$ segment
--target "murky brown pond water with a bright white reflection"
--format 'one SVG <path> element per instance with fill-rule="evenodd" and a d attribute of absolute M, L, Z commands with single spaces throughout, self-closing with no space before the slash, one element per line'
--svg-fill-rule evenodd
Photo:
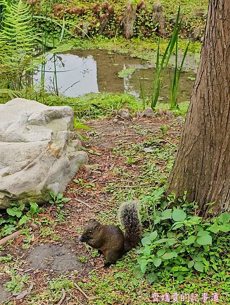
<path fill-rule="evenodd" d="M 134 68 L 131 75 L 118 77 L 122 69 Z M 48 93 L 54 90 L 54 57 L 49 54 L 45 67 L 45 88 Z M 128 93 L 140 97 L 142 92 L 152 94 L 155 69 L 149 63 L 128 55 L 109 53 L 105 50 L 72 51 L 56 54 L 58 92 L 66 97 L 79 97 L 87 93 Z M 168 102 L 170 97 L 173 70 L 167 69 L 161 90 L 161 100 Z M 180 78 L 179 102 L 190 99 L 194 72 L 183 72 Z M 191 78 L 191 79 L 190 79 Z M 39 83 L 41 71 L 34 75 Z"/>

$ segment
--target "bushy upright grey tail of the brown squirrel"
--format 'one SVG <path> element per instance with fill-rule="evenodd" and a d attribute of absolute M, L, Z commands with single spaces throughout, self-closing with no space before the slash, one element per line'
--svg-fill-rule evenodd
<path fill-rule="evenodd" d="M 124 253 L 141 240 L 140 204 L 137 201 L 123 203 L 118 210 L 118 218 L 124 227 Z"/>

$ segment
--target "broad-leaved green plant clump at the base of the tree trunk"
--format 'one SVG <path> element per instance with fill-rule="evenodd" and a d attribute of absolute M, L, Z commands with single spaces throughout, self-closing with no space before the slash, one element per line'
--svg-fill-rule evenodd
<path fill-rule="evenodd" d="M 160 192 L 157 200 L 162 195 Z M 229 213 L 203 219 L 198 216 L 197 206 L 186 202 L 186 192 L 178 201 L 180 207 L 175 206 L 175 194 L 168 196 L 167 201 L 162 201 L 161 197 L 161 209 L 155 209 L 153 215 L 148 213 L 151 231 L 143 234 L 142 248 L 137 251 L 140 256 L 136 275 L 142 277 L 147 273 L 149 279 L 155 280 L 159 270 L 165 268 L 178 280 L 183 280 L 194 271 L 213 275 L 218 270 L 215 277 L 224 280 L 226 244 L 230 240 L 227 234 Z M 169 208 L 172 204 L 174 206 Z M 227 264 L 229 267 L 229 261 Z"/>

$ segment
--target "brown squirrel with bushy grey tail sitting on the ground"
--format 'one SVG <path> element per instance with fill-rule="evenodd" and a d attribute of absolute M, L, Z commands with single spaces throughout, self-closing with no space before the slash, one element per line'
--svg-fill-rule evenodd
<path fill-rule="evenodd" d="M 124 227 L 124 234 L 117 226 L 102 225 L 94 220 L 84 227 L 80 238 L 80 241 L 106 256 L 105 268 L 115 264 L 141 239 L 140 206 L 137 201 L 123 203 L 118 210 L 118 219 Z"/>

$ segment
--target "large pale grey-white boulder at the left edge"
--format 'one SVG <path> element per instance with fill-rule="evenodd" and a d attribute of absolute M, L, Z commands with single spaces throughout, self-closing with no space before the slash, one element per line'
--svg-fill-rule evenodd
<path fill-rule="evenodd" d="M 73 140 L 74 112 L 14 99 L 0 104 L 0 208 L 12 201 L 45 202 L 62 193 L 88 162 Z"/>

